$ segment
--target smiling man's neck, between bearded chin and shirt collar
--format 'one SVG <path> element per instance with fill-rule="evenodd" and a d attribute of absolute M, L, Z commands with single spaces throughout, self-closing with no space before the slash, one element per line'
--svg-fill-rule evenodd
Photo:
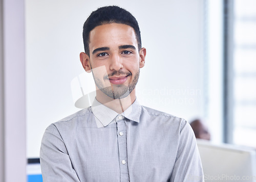
<path fill-rule="evenodd" d="M 96 91 L 96 99 L 102 103 L 104 106 L 112 109 L 113 111 L 117 112 L 118 114 L 123 113 L 127 108 L 129 108 L 132 103 L 135 101 L 135 89 L 126 97 L 124 98 L 111 98 L 105 95 L 103 92 L 97 89 Z"/>

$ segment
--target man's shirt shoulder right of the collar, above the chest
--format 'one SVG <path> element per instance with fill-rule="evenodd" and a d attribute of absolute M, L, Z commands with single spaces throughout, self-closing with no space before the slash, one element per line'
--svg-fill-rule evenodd
<path fill-rule="evenodd" d="M 187 121 L 183 118 L 174 116 L 172 114 L 168 114 L 165 112 L 161 112 L 152 108 L 148 108 L 145 106 L 141 106 L 141 117 L 142 119 L 148 119 L 151 122 L 156 121 L 158 123 L 164 123 L 164 124 L 170 124 L 172 126 L 176 125 L 177 127 L 180 127 L 180 131 L 183 129 L 183 127 L 188 124 Z"/>

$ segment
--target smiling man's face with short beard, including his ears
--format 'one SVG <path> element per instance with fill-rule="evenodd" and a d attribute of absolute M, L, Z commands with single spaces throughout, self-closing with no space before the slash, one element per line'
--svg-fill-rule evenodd
<path fill-rule="evenodd" d="M 90 32 L 89 50 L 88 64 L 97 88 L 114 99 L 129 95 L 146 53 L 145 48 L 138 51 L 134 29 L 119 23 L 99 25 Z M 99 67 L 103 69 L 94 69 Z"/>

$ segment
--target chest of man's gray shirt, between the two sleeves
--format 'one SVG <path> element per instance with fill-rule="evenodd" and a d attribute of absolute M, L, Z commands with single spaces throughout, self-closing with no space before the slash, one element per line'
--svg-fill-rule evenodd
<path fill-rule="evenodd" d="M 164 127 L 120 121 L 71 135 L 66 147 L 81 181 L 167 181 L 176 160 L 175 133 Z"/>

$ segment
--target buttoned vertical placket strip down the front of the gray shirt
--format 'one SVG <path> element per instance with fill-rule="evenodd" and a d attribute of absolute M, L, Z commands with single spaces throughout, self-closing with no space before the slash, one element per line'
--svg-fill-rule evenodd
<path fill-rule="evenodd" d="M 117 122 L 117 140 L 119 149 L 119 166 L 121 182 L 129 181 L 129 171 L 127 165 L 127 144 L 126 144 L 126 126 L 124 117 L 119 115 Z"/>

